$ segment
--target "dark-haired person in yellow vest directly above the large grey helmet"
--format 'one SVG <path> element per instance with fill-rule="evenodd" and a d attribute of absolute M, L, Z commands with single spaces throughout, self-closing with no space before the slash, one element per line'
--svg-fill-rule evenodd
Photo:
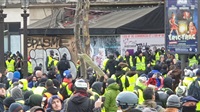
<path fill-rule="evenodd" d="M 133 67 L 131 71 L 127 72 L 127 78 L 129 81 L 129 87 L 127 88 L 127 91 L 133 92 L 136 85 L 136 80 L 138 78 L 138 74 L 136 72 L 136 67 Z"/>

